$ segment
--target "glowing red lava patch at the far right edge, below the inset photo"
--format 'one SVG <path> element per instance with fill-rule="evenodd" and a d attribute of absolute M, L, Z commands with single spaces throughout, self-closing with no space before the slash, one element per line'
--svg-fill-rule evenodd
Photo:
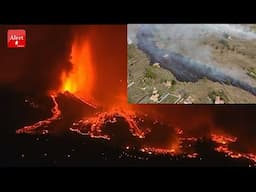
<path fill-rule="evenodd" d="M 212 134 L 212 140 L 218 144 L 218 146 L 215 148 L 216 151 L 225 153 L 233 159 L 245 158 L 256 162 L 256 154 L 239 153 L 230 149 L 229 144 L 237 142 L 236 137 Z"/>

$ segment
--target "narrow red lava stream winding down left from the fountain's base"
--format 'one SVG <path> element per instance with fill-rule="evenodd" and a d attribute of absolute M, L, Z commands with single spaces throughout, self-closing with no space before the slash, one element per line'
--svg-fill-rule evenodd
<path fill-rule="evenodd" d="M 21 133 L 36 133 L 37 129 L 39 127 L 45 127 L 47 125 L 49 125 L 52 121 L 57 120 L 60 115 L 61 115 L 61 111 L 59 110 L 59 106 L 58 103 L 56 101 L 56 98 L 54 95 L 51 95 L 52 101 L 54 103 L 54 106 L 52 108 L 52 116 L 48 119 L 42 120 L 42 121 L 38 121 L 37 123 L 33 124 L 33 125 L 29 125 L 29 126 L 25 126 L 21 129 L 18 129 L 16 131 L 17 134 L 21 134 Z M 41 134 L 47 134 L 48 130 L 42 130 Z"/>

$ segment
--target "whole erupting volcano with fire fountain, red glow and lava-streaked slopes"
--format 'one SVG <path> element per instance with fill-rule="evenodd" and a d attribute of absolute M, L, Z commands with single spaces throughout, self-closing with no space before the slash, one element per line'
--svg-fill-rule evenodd
<path fill-rule="evenodd" d="M 25 109 L 39 115 L 34 117 L 37 121 L 21 122 L 23 127 L 16 129 L 17 137 L 31 140 L 39 146 L 36 149 L 44 150 L 38 156 L 47 164 L 55 165 L 63 159 L 83 163 L 114 159 L 200 165 L 208 158 L 204 146 L 209 153 L 224 154 L 218 158 L 225 162 L 234 159 L 245 159 L 250 165 L 256 162 L 253 153 L 238 153 L 229 147 L 237 138 L 214 134 L 207 137 L 211 132 L 207 123 L 212 123 L 212 120 L 207 117 L 205 109 L 197 113 L 201 117 L 193 114 L 190 117 L 183 106 L 127 103 L 125 26 L 74 27 L 72 35 L 74 38 L 67 57 L 70 67 L 54 70 L 57 76 L 53 82 L 58 82 L 58 86 L 51 86 L 46 91 L 47 106 L 51 109 L 46 107 L 44 100 L 34 99 L 38 96 L 36 94 L 25 99 Z M 41 119 L 44 116 L 40 116 L 40 111 L 47 111 L 50 116 Z M 200 128 L 197 129 L 200 126 L 206 127 L 207 131 L 200 132 Z M 37 144 L 39 142 L 42 143 Z M 211 142 L 214 147 L 209 144 Z M 45 146 L 49 147 L 46 149 Z M 56 149 L 58 146 L 65 147 Z M 51 148 L 56 149 L 56 154 L 47 152 Z M 27 155 L 26 150 L 27 147 L 19 147 L 19 160 L 30 158 L 36 161 L 36 157 Z M 54 160 L 58 159 L 57 155 L 63 159 Z M 46 158 L 52 159 L 47 161 Z"/>

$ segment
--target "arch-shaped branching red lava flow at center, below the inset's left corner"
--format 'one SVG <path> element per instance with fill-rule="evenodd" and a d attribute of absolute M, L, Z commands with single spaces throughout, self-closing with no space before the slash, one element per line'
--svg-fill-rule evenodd
<path fill-rule="evenodd" d="M 103 127 L 107 123 L 116 123 L 117 117 L 124 118 L 129 125 L 131 134 L 138 138 L 144 138 L 144 132 L 138 127 L 135 121 L 135 115 L 131 112 L 113 109 L 109 112 L 101 112 L 96 114 L 95 117 L 87 118 L 79 122 L 79 128 L 70 128 L 70 131 L 75 131 L 81 135 L 88 135 L 92 138 L 103 138 L 110 140 L 110 136 L 103 134 Z"/>

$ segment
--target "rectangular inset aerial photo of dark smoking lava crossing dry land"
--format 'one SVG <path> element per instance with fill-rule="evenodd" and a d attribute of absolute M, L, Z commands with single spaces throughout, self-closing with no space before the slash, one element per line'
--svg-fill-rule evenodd
<path fill-rule="evenodd" d="M 256 103 L 255 24 L 129 24 L 128 102 Z"/>

